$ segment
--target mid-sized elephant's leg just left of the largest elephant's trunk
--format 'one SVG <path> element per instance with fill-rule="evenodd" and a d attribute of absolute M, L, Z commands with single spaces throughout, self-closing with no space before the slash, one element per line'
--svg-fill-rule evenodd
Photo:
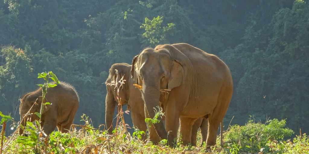
<path fill-rule="evenodd" d="M 145 113 L 144 111 L 138 110 L 138 108 L 132 106 L 131 107 L 131 118 L 134 124 L 134 128 L 139 129 L 140 131 L 144 131 L 145 133 L 142 135 L 142 140 L 147 140 L 147 125 L 145 123 Z"/>

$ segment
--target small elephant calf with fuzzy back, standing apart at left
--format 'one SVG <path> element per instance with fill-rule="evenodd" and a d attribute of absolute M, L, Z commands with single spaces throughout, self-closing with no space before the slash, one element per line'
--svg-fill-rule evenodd
<path fill-rule="evenodd" d="M 44 107 L 41 115 L 42 130 L 47 136 L 49 136 L 56 127 L 62 133 L 68 132 L 67 130 L 70 130 L 73 124 L 79 102 L 79 97 L 75 88 L 68 83 L 60 82 L 57 86 L 48 88 L 44 100 L 42 100 L 42 98 L 41 87 L 22 97 L 19 107 L 21 124 L 26 126 L 27 121 L 33 122 L 34 120 L 38 120 L 39 117 L 33 113 L 40 113 L 42 102 L 49 102 L 50 105 L 48 104 Z M 29 110 L 32 114 L 23 119 L 23 116 L 27 114 Z M 23 134 L 22 127 L 19 129 L 19 134 Z"/>

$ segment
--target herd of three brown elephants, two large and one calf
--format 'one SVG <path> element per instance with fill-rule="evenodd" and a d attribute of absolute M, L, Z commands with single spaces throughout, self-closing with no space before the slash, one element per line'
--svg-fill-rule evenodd
<path fill-rule="evenodd" d="M 125 84 L 120 88 L 119 95 L 114 84 L 106 85 L 105 122 L 109 134 L 113 130 L 115 107 L 121 103 L 122 106 L 128 104 L 135 128 L 144 132 L 148 129 L 149 141 L 166 139 L 168 145 L 173 146 L 179 131 L 183 144 L 196 145 L 197 129 L 200 128 L 202 141 L 208 146 L 216 144 L 218 128 L 220 124 L 222 128 L 233 93 L 231 72 L 217 56 L 185 43 L 158 45 L 135 56 L 132 65 L 112 65 L 106 83 L 117 83 L 122 77 Z M 133 84 L 142 88 L 136 88 Z M 170 91 L 166 93 L 160 89 Z M 21 99 L 21 118 L 34 105 L 33 102 L 36 102 L 34 106 L 37 108 L 32 107 L 30 113 L 37 110 L 40 103 L 47 102 L 40 98 L 41 90 L 28 93 Z M 57 97 L 53 97 L 57 92 Z M 120 102 L 117 97 L 121 98 Z M 53 105 L 43 111 L 43 131 L 49 135 L 57 127 L 59 131 L 66 132 L 78 108 L 78 95 L 74 87 L 61 82 L 50 88 L 45 98 Z M 147 128 L 145 118 L 155 117 L 154 107 L 161 107 L 164 116 L 158 117 L 159 123 Z M 35 119 L 32 114 L 21 124 Z M 22 134 L 23 130 L 19 132 Z M 146 134 L 143 139 L 147 139 Z"/>

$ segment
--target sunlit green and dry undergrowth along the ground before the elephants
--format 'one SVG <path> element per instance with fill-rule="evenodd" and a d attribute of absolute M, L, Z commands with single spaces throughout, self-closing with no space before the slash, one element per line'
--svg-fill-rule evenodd
<path fill-rule="evenodd" d="M 4 115 L 3 115 L 4 116 Z M 48 140 L 42 135 L 37 137 L 37 128 L 34 124 L 28 122 L 26 132 L 28 137 L 13 134 L 5 137 L 3 153 L 20 153 L 34 154 L 35 152 L 43 153 L 45 150 L 50 153 L 105 153 L 109 148 L 113 153 L 248 153 L 263 152 L 271 154 L 292 154 L 309 152 L 309 139 L 306 134 L 302 137 L 296 136 L 293 141 L 283 140 L 283 137 L 291 136 L 294 132 L 289 128 L 283 128 L 286 124 L 285 120 L 269 120 L 265 124 L 250 120 L 246 125 L 229 126 L 224 132 L 224 147 L 219 147 L 220 136 L 217 137 L 217 145 L 206 147 L 204 145 L 193 147 L 190 145 L 178 145 L 175 148 L 166 146 L 166 140 L 158 145 L 145 143 L 141 139 L 139 130 L 130 136 L 130 133 L 124 128 L 125 125 L 119 125 L 115 128 L 114 135 L 107 134 L 106 130 L 93 128 L 89 123 L 88 117 L 81 116 L 85 124 L 73 126 L 69 133 L 52 132 Z M 6 117 L 7 118 L 7 117 Z M 79 127 L 79 128 L 77 128 Z M 109 137 L 109 142 L 107 138 Z M 180 138 L 178 139 L 178 142 Z M 39 142 L 38 142 L 39 141 Z M 180 142 L 181 143 L 181 142 Z M 198 132 L 197 144 L 201 144 L 201 133 Z M 210 149 L 207 149 L 210 148 Z"/>

